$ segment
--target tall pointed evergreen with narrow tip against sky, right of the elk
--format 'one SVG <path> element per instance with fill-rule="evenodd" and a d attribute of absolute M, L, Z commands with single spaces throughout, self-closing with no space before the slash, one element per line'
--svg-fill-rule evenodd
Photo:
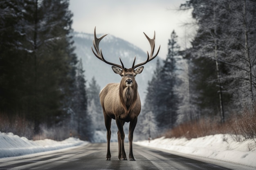
<path fill-rule="evenodd" d="M 159 112 L 157 122 L 159 128 L 173 128 L 177 121 L 177 109 L 179 98 L 176 94 L 175 87 L 178 85 L 177 77 L 177 60 L 179 60 L 180 46 L 177 44 L 177 35 L 175 31 L 171 33 L 171 39 L 168 42 L 168 55 L 164 61 L 162 71 L 160 72 L 158 101 Z"/>

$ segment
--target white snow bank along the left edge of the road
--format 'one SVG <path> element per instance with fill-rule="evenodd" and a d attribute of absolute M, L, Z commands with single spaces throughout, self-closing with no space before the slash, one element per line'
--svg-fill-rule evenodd
<path fill-rule="evenodd" d="M 26 137 L 13 135 L 13 133 L 0 132 L 0 158 L 58 150 L 87 143 L 74 137 L 63 141 L 54 141 L 51 139 L 32 141 Z"/>

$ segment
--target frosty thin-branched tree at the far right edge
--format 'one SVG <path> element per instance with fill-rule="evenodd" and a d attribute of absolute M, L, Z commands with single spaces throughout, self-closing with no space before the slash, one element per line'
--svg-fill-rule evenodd
<path fill-rule="evenodd" d="M 226 7 L 230 14 L 229 32 L 226 32 L 224 41 L 228 55 L 219 60 L 230 66 L 230 76 L 227 78 L 233 80 L 230 90 L 234 93 L 235 105 L 240 106 L 255 100 L 255 7 L 254 0 L 230 0 Z"/>

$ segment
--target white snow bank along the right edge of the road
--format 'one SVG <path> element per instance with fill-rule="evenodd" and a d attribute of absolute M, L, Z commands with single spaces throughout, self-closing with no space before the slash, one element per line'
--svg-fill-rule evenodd
<path fill-rule="evenodd" d="M 150 143 L 148 141 L 134 143 L 256 168 L 256 142 L 253 139 L 238 142 L 231 135 L 219 134 L 191 140 L 161 137 L 151 140 Z"/>

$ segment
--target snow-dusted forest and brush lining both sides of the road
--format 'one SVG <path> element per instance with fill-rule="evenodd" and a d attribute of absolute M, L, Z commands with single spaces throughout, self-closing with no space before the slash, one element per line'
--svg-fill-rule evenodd
<path fill-rule="evenodd" d="M 188 48 L 170 30 L 135 133 L 256 137 L 256 2 L 188 0 L 196 28 Z M 0 131 L 28 139 L 93 141 L 105 130 L 100 87 L 74 53 L 69 0 L 0 1 Z M 254 65 L 255 64 L 255 65 Z M 99 116 L 98 116 L 99 115 Z M 101 123 L 99 123 L 101 122 Z M 240 140 L 242 138 L 239 138 Z"/>

